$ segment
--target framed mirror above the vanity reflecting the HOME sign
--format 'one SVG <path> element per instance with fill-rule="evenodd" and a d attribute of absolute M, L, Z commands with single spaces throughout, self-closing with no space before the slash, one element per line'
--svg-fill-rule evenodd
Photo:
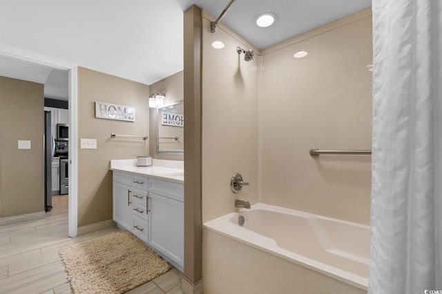
<path fill-rule="evenodd" d="M 157 108 L 157 153 L 184 154 L 183 102 Z"/>

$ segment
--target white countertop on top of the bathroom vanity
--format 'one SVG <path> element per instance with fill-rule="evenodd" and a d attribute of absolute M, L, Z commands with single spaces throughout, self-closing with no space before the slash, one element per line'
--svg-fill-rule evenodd
<path fill-rule="evenodd" d="M 180 160 L 152 160 L 151 167 L 137 167 L 136 159 L 111 160 L 111 171 L 184 183 L 184 162 Z"/>

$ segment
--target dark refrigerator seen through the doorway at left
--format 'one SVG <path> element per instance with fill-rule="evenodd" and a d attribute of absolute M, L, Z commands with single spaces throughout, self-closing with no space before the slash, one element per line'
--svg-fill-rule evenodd
<path fill-rule="evenodd" d="M 52 209 L 52 159 L 55 153 L 55 139 L 52 134 L 50 112 L 44 112 L 44 210 Z"/>

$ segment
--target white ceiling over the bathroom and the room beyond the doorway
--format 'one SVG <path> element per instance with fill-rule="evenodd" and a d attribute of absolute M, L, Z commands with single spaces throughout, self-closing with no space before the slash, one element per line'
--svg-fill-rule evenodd
<path fill-rule="evenodd" d="M 0 0 L 0 53 L 32 52 L 151 85 L 183 69 L 183 11 L 218 17 L 229 0 Z M 222 20 L 266 48 L 371 5 L 371 0 L 236 0 Z M 258 28 L 258 14 L 277 21 Z M 12 48 L 12 49 L 11 49 Z M 29 65 L 29 68 L 23 68 Z M 67 99 L 67 72 L 0 56 L 0 75 L 45 83 Z"/>

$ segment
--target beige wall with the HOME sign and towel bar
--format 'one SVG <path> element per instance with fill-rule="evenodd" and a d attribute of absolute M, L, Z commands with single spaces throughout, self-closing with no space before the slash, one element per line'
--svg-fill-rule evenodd
<path fill-rule="evenodd" d="M 97 149 L 78 146 L 79 227 L 112 218 L 109 161 L 148 154 L 142 139 L 111 138 L 111 133 L 149 136 L 148 93 L 148 85 L 79 67 L 78 138 L 97 139 Z M 135 122 L 95 118 L 95 101 L 135 107 Z"/>

